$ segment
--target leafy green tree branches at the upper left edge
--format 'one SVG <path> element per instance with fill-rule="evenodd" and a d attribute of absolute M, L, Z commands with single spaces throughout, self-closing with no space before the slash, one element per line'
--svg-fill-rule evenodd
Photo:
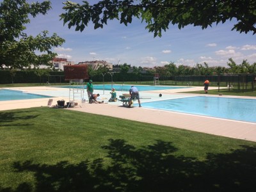
<path fill-rule="evenodd" d="M 24 68 L 49 64 L 56 56 L 52 46 L 58 47 L 65 40 L 56 33 L 47 36 L 42 31 L 35 37 L 24 33 L 25 25 L 30 22 L 29 15 L 45 15 L 51 9 L 51 2 L 28 4 L 26 0 L 4 0 L 0 3 L 0 67 Z M 35 51 L 44 54 L 38 56 Z"/>

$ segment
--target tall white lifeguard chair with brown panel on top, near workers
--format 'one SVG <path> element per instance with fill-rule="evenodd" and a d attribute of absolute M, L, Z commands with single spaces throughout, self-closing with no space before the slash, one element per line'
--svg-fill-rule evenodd
<path fill-rule="evenodd" d="M 65 81 L 69 81 L 67 108 L 84 103 L 84 79 L 89 79 L 87 65 L 64 65 Z"/>

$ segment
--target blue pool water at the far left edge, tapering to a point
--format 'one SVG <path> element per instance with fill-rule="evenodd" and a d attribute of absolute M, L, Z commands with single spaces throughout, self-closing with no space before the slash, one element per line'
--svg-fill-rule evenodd
<path fill-rule="evenodd" d="M 36 95 L 32 93 L 24 93 L 16 90 L 0 90 L 0 101 L 3 100 L 24 100 L 24 99 L 42 99 L 49 98 L 47 95 Z"/>

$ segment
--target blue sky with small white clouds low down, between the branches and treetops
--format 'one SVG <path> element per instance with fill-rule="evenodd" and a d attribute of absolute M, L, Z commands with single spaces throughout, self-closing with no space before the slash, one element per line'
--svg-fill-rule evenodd
<path fill-rule="evenodd" d="M 82 0 L 71 0 L 83 4 Z M 28 0 L 29 3 L 33 2 Z M 38 1 L 42 2 L 42 1 Z M 67 58 L 75 64 L 83 61 L 104 60 L 109 63 L 127 63 L 136 67 L 163 67 L 171 62 L 175 65 L 194 67 L 196 63 L 209 67 L 227 67 L 228 58 L 237 65 L 247 60 L 251 65 L 256 62 L 256 35 L 232 31 L 234 21 L 213 25 L 207 29 L 186 26 L 179 29 L 170 24 L 169 29 L 156 36 L 145 29 L 146 24 L 134 19 L 125 26 L 118 20 L 109 20 L 102 29 L 93 29 L 89 24 L 84 31 L 68 29 L 59 15 L 64 13 L 63 0 L 51 1 L 52 9 L 47 15 L 31 18 L 26 25 L 26 33 L 36 36 L 44 30 L 49 35 L 57 33 L 65 39 L 61 47 L 52 51 L 59 58 Z M 90 4 L 97 0 L 88 1 Z"/>

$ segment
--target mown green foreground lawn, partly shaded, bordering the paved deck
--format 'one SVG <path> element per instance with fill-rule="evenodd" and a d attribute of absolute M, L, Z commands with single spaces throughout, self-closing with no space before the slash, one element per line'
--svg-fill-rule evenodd
<path fill-rule="evenodd" d="M 66 109 L 0 111 L 0 123 L 0 191 L 256 187 L 254 142 Z"/>

